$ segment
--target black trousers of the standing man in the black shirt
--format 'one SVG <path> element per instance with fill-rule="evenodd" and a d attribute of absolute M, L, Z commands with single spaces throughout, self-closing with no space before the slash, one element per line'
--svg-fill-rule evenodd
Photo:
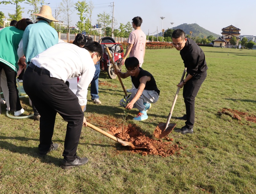
<path fill-rule="evenodd" d="M 207 71 L 195 75 L 183 86 L 183 98 L 186 106 L 186 128 L 193 128 L 195 121 L 195 97 L 207 76 Z"/>

